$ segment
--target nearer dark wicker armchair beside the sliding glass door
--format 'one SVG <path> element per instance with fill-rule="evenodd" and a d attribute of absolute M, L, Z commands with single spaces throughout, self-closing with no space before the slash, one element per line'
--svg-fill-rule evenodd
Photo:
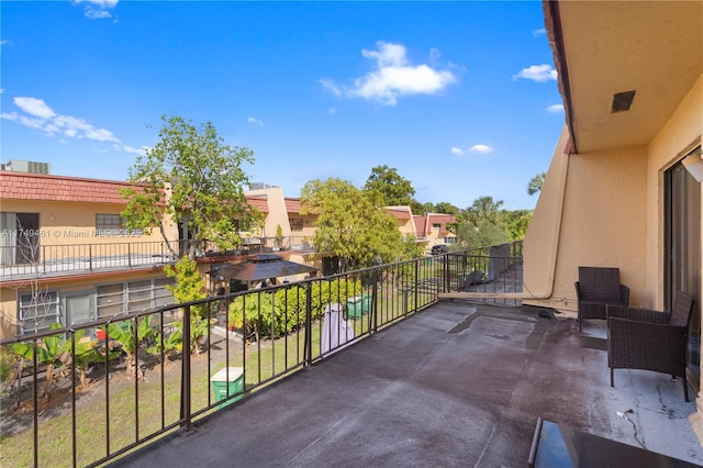
<path fill-rule="evenodd" d="M 685 350 L 693 299 L 677 292 L 671 312 L 607 307 L 607 366 L 611 387 L 614 369 L 645 369 L 682 377 L 685 381 Z"/>

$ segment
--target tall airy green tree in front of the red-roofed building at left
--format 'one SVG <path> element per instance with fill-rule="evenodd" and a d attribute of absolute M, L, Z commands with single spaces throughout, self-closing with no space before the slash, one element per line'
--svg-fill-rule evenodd
<path fill-rule="evenodd" d="M 165 222 L 171 215 L 178 225 L 188 225 L 194 241 L 236 247 L 239 231 L 260 221 L 243 189 L 248 178 L 242 165 L 254 160 L 253 152 L 226 145 L 210 122 L 198 129 L 178 115 L 163 115 L 161 121 L 159 142 L 130 169 L 133 187 L 120 190 L 129 200 L 122 212 L 126 226 L 146 232 L 158 227 L 168 241 Z"/>

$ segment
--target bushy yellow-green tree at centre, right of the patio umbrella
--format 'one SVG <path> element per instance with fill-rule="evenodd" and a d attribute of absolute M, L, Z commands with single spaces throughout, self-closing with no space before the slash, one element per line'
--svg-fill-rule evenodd
<path fill-rule="evenodd" d="M 338 256 L 346 267 L 365 267 L 412 258 L 414 242 L 404 239 L 376 190 L 361 191 L 337 178 L 311 180 L 301 190 L 301 214 L 317 218 L 313 243 Z M 412 247 L 411 247 L 412 246 Z"/>

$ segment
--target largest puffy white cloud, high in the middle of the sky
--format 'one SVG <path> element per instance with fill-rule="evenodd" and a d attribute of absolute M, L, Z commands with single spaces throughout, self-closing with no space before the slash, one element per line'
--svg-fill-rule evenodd
<path fill-rule="evenodd" d="M 376 62 L 376 69 L 364 77 L 354 80 L 354 85 L 346 87 L 337 85 L 328 78 L 320 83 L 334 96 L 362 98 L 379 101 L 386 105 L 395 105 L 401 96 L 434 94 L 442 91 L 457 80 L 449 70 L 438 70 L 428 65 L 412 65 L 405 46 L 378 42 L 378 49 L 362 49 L 364 57 Z M 431 55 L 438 57 L 433 49 Z"/>

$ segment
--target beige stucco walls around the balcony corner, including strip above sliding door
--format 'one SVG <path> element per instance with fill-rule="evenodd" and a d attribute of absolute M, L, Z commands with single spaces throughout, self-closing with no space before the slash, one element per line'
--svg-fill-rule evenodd
<path fill-rule="evenodd" d="M 577 268 L 593 265 L 621 268 L 632 305 L 662 308 L 663 171 L 702 131 L 703 77 L 647 146 L 566 156 L 562 134 L 525 237 L 524 303 L 576 313 Z"/>

